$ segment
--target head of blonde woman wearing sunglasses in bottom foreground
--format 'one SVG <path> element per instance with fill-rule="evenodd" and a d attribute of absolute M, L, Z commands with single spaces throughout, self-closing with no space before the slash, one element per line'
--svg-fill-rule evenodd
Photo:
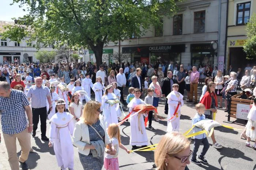
<path fill-rule="evenodd" d="M 192 155 L 190 141 L 178 132 L 165 134 L 154 154 L 157 170 L 185 170 Z"/>

